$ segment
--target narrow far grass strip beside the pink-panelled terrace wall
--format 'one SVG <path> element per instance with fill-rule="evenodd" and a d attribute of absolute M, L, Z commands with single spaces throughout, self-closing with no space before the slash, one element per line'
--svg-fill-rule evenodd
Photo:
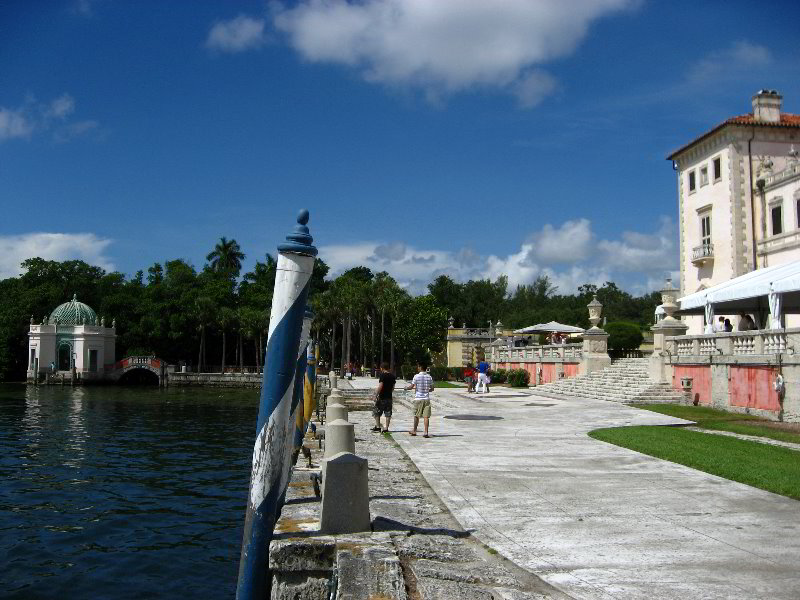
<path fill-rule="evenodd" d="M 724 410 L 708 408 L 706 406 L 692 406 L 686 404 L 634 404 L 636 408 L 643 408 L 653 412 L 696 421 L 698 427 L 703 429 L 716 429 L 718 431 L 732 431 L 745 435 L 756 435 L 782 442 L 800 444 L 800 432 L 781 431 L 770 427 L 768 421 L 753 415 L 729 413 Z M 741 421 L 747 421 L 742 423 Z"/>

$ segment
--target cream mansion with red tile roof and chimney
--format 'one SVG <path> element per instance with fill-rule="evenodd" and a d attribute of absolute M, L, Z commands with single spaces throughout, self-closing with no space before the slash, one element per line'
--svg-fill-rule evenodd
<path fill-rule="evenodd" d="M 678 175 L 683 295 L 800 260 L 800 115 L 783 112 L 782 100 L 761 90 L 752 113 L 726 119 L 668 157 Z M 800 326 L 797 315 L 784 319 L 785 327 Z M 688 333 L 703 332 L 702 315 L 684 320 Z"/>

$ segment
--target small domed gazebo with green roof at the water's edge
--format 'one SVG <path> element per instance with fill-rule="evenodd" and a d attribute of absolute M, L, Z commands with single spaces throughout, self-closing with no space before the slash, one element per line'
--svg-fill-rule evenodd
<path fill-rule="evenodd" d="M 72 372 L 81 379 L 103 379 L 114 365 L 116 323 L 106 327 L 105 318 L 77 295 L 56 307 L 40 325 L 31 317 L 28 333 L 28 379 L 35 373 Z"/>

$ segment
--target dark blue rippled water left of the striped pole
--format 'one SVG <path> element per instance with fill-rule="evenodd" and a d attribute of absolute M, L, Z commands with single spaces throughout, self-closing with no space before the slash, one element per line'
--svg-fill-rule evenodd
<path fill-rule="evenodd" d="M 257 412 L 257 390 L 0 384 L 0 597 L 232 597 Z"/>

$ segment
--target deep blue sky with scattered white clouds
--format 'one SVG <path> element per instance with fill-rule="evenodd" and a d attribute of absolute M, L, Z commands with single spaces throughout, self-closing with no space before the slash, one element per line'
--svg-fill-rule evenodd
<path fill-rule="evenodd" d="M 641 292 L 677 268 L 665 160 L 763 87 L 794 2 L 0 3 L 0 277 L 133 274 L 300 207 L 334 272 Z"/>

